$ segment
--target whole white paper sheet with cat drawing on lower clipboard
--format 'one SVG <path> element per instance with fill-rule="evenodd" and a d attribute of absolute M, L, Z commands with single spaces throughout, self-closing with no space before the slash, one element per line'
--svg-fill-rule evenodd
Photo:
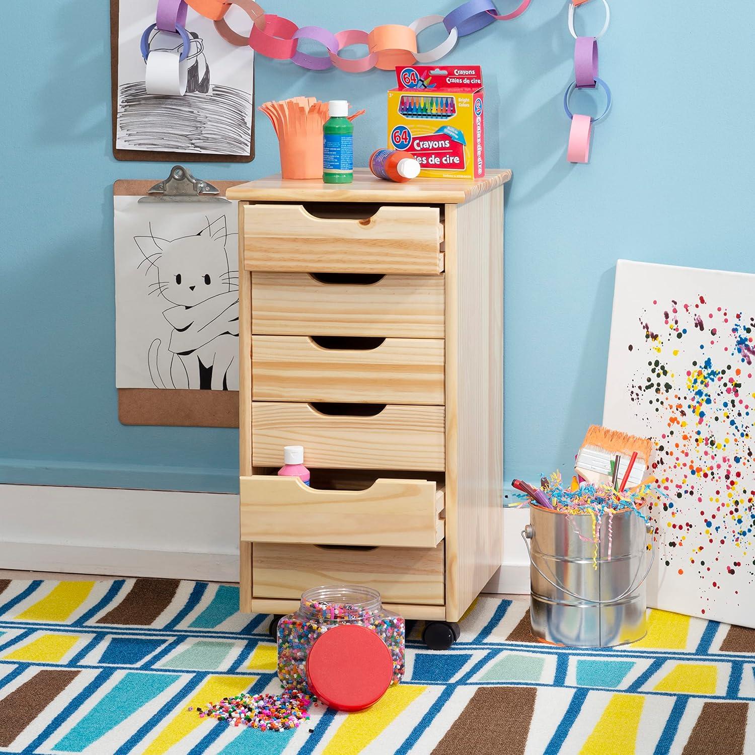
<path fill-rule="evenodd" d="M 238 390 L 236 202 L 113 199 L 116 387 Z"/>

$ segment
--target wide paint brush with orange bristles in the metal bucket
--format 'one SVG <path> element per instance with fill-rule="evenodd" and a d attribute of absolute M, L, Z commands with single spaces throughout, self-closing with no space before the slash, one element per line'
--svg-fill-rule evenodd
<path fill-rule="evenodd" d="M 617 488 L 633 488 L 643 482 L 652 450 L 653 443 L 648 438 L 592 425 L 584 436 L 574 468 L 593 485 L 602 482 L 611 485 L 611 462 L 618 456 L 615 479 L 621 480 L 621 485 L 614 484 Z"/>

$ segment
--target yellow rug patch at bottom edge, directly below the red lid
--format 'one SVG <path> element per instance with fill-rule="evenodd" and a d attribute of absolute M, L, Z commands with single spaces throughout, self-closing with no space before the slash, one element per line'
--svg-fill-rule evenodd
<path fill-rule="evenodd" d="M 391 687 L 372 707 L 350 713 L 328 742 L 322 755 L 356 755 L 379 737 L 427 687 L 399 684 Z"/>

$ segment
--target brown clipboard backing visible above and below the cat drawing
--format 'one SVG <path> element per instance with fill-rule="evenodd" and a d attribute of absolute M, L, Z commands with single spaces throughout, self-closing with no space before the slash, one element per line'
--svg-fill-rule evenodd
<path fill-rule="evenodd" d="M 119 180 L 113 196 L 146 196 L 156 181 Z M 226 195 L 243 181 L 213 181 Z M 119 388 L 118 419 L 125 425 L 166 427 L 239 427 L 237 390 Z"/>

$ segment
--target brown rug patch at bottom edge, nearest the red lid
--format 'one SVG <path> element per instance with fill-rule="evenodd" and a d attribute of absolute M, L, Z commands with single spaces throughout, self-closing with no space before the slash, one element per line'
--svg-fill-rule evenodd
<path fill-rule="evenodd" d="M 433 755 L 523 755 L 537 692 L 535 687 L 480 687 Z"/>

